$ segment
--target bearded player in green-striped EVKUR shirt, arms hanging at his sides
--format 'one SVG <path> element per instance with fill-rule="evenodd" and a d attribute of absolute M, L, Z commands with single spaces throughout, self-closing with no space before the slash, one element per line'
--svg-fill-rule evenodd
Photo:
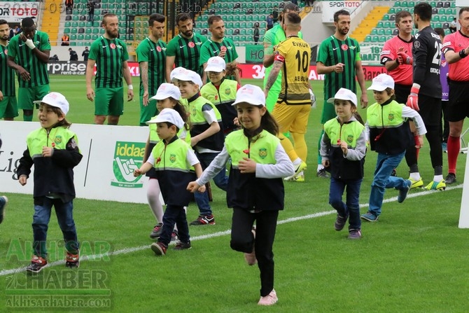
<path fill-rule="evenodd" d="M 109 125 L 118 125 L 119 117 L 124 113 L 123 77 L 127 83 L 127 101 L 134 99 L 134 87 L 127 64 L 129 54 L 125 43 L 117 38 L 117 15 L 105 14 L 102 25 L 104 35 L 95 40 L 90 48 L 86 67 L 86 97 L 90 101 L 94 100 L 94 124 L 103 125 L 107 116 Z M 94 64 L 97 68 L 94 79 L 96 93 L 91 87 Z"/>

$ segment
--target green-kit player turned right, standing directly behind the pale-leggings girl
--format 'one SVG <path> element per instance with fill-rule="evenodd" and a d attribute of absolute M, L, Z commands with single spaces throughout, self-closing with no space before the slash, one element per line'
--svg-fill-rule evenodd
<path fill-rule="evenodd" d="M 158 13 L 150 15 L 150 34 L 135 50 L 140 66 L 140 126 L 146 126 L 157 114 L 156 100 L 148 100 L 148 95 L 156 95 L 160 85 L 165 83 L 166 43 L 161 40 L 165 34 L 165 19 L 165 15 Z"/>

